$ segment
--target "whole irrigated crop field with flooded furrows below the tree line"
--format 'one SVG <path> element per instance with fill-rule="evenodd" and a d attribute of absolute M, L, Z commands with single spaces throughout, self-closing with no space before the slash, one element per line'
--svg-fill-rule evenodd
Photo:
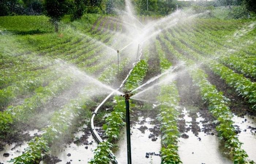
<path fill-rule="evenodd" d="M 133 163 L 254 163 L 256 21 L 125 18 L 0 17 L 0 163 L 126 163 L 131 69 Z"/>

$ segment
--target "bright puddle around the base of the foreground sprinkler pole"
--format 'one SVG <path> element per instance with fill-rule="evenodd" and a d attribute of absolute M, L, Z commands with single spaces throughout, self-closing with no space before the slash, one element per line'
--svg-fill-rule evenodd
<path fill-rule="evenodd" d="M 140 121 L 143 118 L 139 118 Z M 153 128 L 154 125 L 150 124 L 151 119 L 146 118 L 146 122 L 143 125 L 133 124 L 131 125 L 131 153 L 132 153 L 132 163 L 136 164 L 160 164 L 161 157 L 160 156 L 149 156 L 146 158 L 146 153 L 155 152 L 159 154 L 161 149 L 161 136 L 157 137 L 156 141 L 152 141 L 148 136 L 151 132 L 147 129 L 145 130 L 145 134 L 142 133 L 138 128 L 140 126 L 147 126 L 148 128 Z M 118 150 L 114 152 L 117 160 L 120 164 L 127 163 L 127 145 L 126 145 L 126 128 L 124 128 L 121 132 L 120 140 L 118 141 Z"/>

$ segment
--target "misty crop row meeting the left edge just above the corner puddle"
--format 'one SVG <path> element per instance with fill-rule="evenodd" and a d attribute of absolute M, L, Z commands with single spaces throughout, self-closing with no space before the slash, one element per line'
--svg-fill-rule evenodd
<path fill-rule="evenodd" d="M 38 87 L 32 97 L 26 98 L 22 105 L 9 106 L 1 112 L 0 131 L 6 133 L 15 122 L 27 122 L 32 114 L 39 111 L 40 107 L 47 104 L 54 97 L 72 85 L 74 78 L 61 77 L 49 83 L 46 87 Z"/>

